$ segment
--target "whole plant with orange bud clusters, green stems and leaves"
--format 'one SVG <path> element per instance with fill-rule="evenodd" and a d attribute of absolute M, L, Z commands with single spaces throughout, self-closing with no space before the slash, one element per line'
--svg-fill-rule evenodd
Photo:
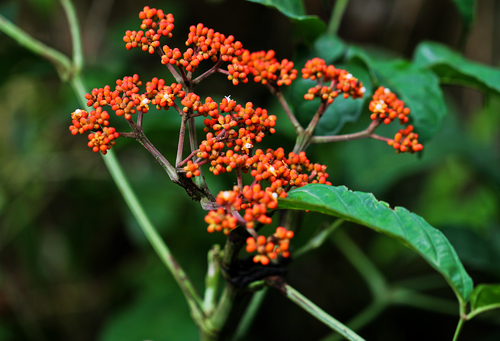
<path fill-rule="evenodd" d="M 293 20 L 313 27 L 310 30 L 324 30 L 316 18 L 293 14 L 280 4 L 274 6 Z M 458 340 L 466 321 L 500 307 L 500 285 L 474 287 L 451 243 L 424 218 L 403 207 L 391 207 L 370 193 L 333 185 L 335 181 L 329 177 L 326 166 L 314 163 L 306 154 L 313 144 L 371 139 L 373 143 L 386 144 L 388 153 L 418 157 L 424 151 L 422 141 L 435 134 L 445 113 L 439 77 L 446 74 L 448 80 L 466 81 L 486 91 L 499 92 L 498 85 L 490 81 L 492 74 L 498 75 L 498 70 L 470 63 L 434 43 L 421 44 L 411 63 L 375 60 L 360 48 L 346 46 L 330 30 L 316 42 L 337 42 L 338 46 L 332 48 L 330 54 L 325 55 L 323 51 L 322 56 L 307 59 L 298 66 L 291 60 L 280 60 L 273 50 L 249 51 L 232 35 L 219 33 L 202 23 L 189 28 L 185 46 L 171 46 L 173 14 L 146 6 L 140 11 L 139 19 L 139 28 L 125 32 L 125 48 L 150 53 L 151 58 L 163 66 L 162 72 L 168 72 L 175 81 L 168 83 L 154 77 L 143 82 L 139 75 L 133 74 L 116 80 L 113 85 L 95 88 L 84 95 L 86 106 L 71 113 L 69 130 L 73 135 L 84 134 L 88 147 L 104 155 L 139 225 L 177 280 L 199 328 L 200 339 L 243 339 L 250 325 L 248 321 L 257 314 L 263 295 L 270 287 L 330 327 L 333 334 L 329 339 L 340 335 L 348 340 L 364 340 L 362 333 L 355 330 L 369 319 L 353 320 L 345 325 L 286 280 L 287 266 L 295 258 L 321 246 L 331 235 L 336 236 L 335 243 L 340 249 L 350 248 L 351 252 L 358 253 L 353 265 L 364 269 L 360 274 L 374 295 L 375 310 L 382 310 L 389 303 L 401 303 L 408 296 L 417 300 L 423 297 L 408 289 L 391 288 L 393 301 L 389 302 L 387 296 L 388 301 L 380 300 L 389 286 L 372 268 L 370 260 L 339 230 L 344 222 L 370 228 L 412 249 L 444 278 L 458 300 L 458 325 L 455 333 L 450 333 L 450 339 Z M 4 26 L 2 29 L 5 31 Z M 332 55 L 357 61 L 358 67 L 353 69 L 359 70 L 362 65 L 363 79 L 349 68 L 336 67 L 325 60 Z M 56 63 L 63 60 L 57 54 L 52 57 Z M 69 63 L 75 66 L 77 61 L 75 57 Z M 61 72 L 63 64 L 59 69 L 61 76 L 65 75 Z M 208 67 L 202 69 L 202 65 Z M 82 95 L 78 72 L 65 76 L 70 78 L 77 94 Z M 248 82 L 261 84 L 276 98 L 280 113 L 261 108 L 259 103 L 252 102 L 251 94 L 238 103 L 230 94 L 217 98 L 196 93 L 199 83 L 221 76 L 237 87 L 244 87 Z M 417 89 L 419 86 L 422 88 Z M 430 110 L 419 102 L 422 96 L 427 96 Z M 365 106 L 369 112 L 365 129 L 338 133 L 348 121 L 338 116 L 342 115 L 342 108 L 346 108 L 339 105 L 343 101 L 359 107 L 358 112 Z M 143 122 L 150 115 L 177 117 L 179 140 L 173 147 L 175 159 L 167 159 L 147 138 Z M 316 134 L 328 115 L 335 117 L 335 128 L 330 134 Z M 119 119 L 128 124 L 129 131 L 114 128 L 114 122 Z M 287 151 L 283 147 L 260 147 L 269 135 L 280 134 L 282 120 L 288 120 L 293 126 L 294 148 Z M 195 125 L 197 121 L 203 123 L 202 135 Z M 377 133 L 379 128 L 387 126 L 397 126 L 393 136 Z M 199 202 L 199 209 L 206 211 L 200 228 L 204 225 L 207 233 L 220 234 L 222 246 L 214 245 L 208 252 L 203 297 L 144 214 L 114 159 L 112 147 L 126 138 L 139 142 L 170 180 Z M 204 172 L 233 177 L 234 186 L 213 193 Z M 299 215 L 319 212 L 337 219 L 319 228 L 307 243 L 294 245 L 294 237 L 301 232 L 297 212 Z M 243 300 L 243 296 L 251 297 L 250 303 Z M 246 311 L 236 314 L 242 304 Z M 234 323 L 235 315 L 240 324 Z"/>

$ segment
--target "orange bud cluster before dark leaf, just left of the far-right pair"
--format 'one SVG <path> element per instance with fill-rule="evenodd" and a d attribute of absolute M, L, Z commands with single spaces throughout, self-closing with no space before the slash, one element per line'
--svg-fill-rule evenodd
<path fill-rule="evenodd" d="M 326 65 L 321 58 L 306 62 L 302 69 L 302 78 L 318 82 L 304 95 L 304 99 L 309 101 L 318 97 L 331 104 L 339 94 L 343 94 L 344 98 L 356 99 L 363 98 L 366 91 L 363 84 L 352 74 L 343 69 L 336 69 L 333 65 Z"/>

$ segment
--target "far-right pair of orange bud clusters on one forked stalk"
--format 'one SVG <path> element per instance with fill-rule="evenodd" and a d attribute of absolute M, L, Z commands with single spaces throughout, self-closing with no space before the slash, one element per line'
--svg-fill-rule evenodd
<path fill-rule="evenodd" d="M 398 99 L 397 96 L 388 88 L 379 87 L 373 94 L 372 101 L 368 106 L 372 120 L 382 120 L 385 124 L 389 124 L 395 119 L 399 123 L 408 123 L 408 115 L 410 108 L 405 107 L 405 103 Z M 408 125 L 405 129 L 400 129 L 394 139 L 387 141 L 390 146 L 396 149 L 397 153 L 415 153 L 421 151 L 424 147 L 418 143 L 418 134 L 413 132 L 413 126 Z"/>

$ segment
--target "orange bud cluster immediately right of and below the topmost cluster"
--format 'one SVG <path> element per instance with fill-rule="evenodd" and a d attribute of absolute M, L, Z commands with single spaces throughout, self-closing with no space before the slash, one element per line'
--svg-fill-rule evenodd
<path fill-rule="evenodd" d="M 203 24 L 191 26 L 189 28 L 186 46 L 193 45 L 182 53 L 178 48 L 170 48 L 168 45 L 162 47 L 162 64 L 172 64 L 184 67 L 186 71 L 194 71 L 201 61 L 211 59 L 217 62 L 220 59 L 225 62 L 231 62 L 233 58 L 243 53 L 243 45 L 235 41 L 232 35 L 226 37 L 224 34 L 215 32 L 213 29 L 204 27 Z M 246 79 L 246 74 L 240 73 L 238 77 Z M 234 83 L 234 81 L 233 81 Z"/>

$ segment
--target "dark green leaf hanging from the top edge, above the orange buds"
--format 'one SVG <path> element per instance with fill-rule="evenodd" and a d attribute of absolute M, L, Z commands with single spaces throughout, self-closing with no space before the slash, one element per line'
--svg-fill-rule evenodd
<path fill-rule="evenodd" d="M 280 11 L 293 20 L 299 33 L 308 42 L 314 41 L 326 30 L 326 25 L 315 15 L 306 15 L 301 0 L 247 0 Z"/>

